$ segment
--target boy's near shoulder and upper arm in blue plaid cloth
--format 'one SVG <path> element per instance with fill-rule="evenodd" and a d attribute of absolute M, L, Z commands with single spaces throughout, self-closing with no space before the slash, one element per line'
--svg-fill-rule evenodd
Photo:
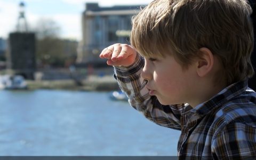
<path fill-rule="evenodd" d="M 217 157 L 256 157 L 254 93 L 238 95 L 215 112 L 212 151 Z"/>

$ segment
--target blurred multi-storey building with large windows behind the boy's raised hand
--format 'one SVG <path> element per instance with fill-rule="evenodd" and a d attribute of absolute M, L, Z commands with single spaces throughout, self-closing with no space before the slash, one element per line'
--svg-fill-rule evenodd
<path fill-rule="evenodd" d="M 83 39 L 78 46 L 77 63 L 100 65 L 100 52 L 114 43 L 129 43 L 131 18 L 145 5 L 100 7 L 86 3 L 82 15 Z"/>

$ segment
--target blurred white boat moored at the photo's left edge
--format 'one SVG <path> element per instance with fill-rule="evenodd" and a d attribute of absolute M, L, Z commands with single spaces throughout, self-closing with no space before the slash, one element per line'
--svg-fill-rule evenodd
<path fill-rule="evenodd" d="M 25 90 L 27 89 L 25 78 L 20 75 L 0 76 L 0 89 L 4 90 Z"/>

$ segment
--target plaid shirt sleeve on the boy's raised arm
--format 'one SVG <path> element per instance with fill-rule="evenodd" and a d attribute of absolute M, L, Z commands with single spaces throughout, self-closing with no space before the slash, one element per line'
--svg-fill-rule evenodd
<path fill-rule="evenodd" d="M 150 96 L 140 76 L 144 59 L 137 54 L 135 62 L 129 67 L 114 67 L 119 87 L 127 94 L 131 106 L 140 111 L 150 121 L 158 125 L 180 130 L 180 116 L 183 105 L 161 105 L 155 96 Z"/>

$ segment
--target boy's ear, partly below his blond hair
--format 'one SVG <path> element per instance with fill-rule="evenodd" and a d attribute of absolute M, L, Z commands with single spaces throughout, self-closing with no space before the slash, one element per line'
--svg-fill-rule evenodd
<path fill-rule="evenodd" d="M 212 70 L 214 58 L 212 52 L 206 47 L 199 49 L 199 52 L 201 52 L 201 56 L 196 61 L 197 75 L 204 77 Z"/>

